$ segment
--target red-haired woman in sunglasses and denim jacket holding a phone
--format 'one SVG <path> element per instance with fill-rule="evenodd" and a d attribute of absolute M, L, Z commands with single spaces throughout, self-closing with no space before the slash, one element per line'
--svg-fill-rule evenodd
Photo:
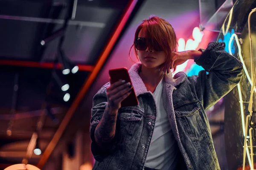
<path fill-rule="evenodd" d="M 132 47 L 140 62 L 129 70 L 133 86 L 107 83 L 93 98 L 93 169 L 220 169 L 205 110 L 239 83 L 242 64 L 224 51 L 224 42 L 211 42 L 205 51 L 175 52 L 176 46 L 163 19 L 151 17 L 137 28 Z M 170 68 L 187 59 L 205 71 L 172 77 Z M 139 105 L 121 108 L 132 88 Z"/>

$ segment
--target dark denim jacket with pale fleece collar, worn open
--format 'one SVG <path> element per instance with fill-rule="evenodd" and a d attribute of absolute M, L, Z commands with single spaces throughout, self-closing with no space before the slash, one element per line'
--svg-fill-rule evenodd
<path fill-rule="evenodd" d="M 218 102 L 241 80 L 242 63 L 224 51 L 224 42 L 211 42 L 195 60 L 205 70 L 188 77 L 179 72 L 165 74 L 163 101 L 180 151 L 179 170 L 219 170 L 205 110 Z M 96 162 L 93 170 L 143 170 L 157 116 L 153 94 L 139 76 L 141 64 L 129 70 L 139 105 L 120 108 L 116 136 L 109 146 L 99 149 L 94 131 L 107 105 L 104 85 L 93 98 L 90 136 Z M 208 73 L 207 73 L 208 72 Z M 183 166 L 183 167 L 181 167 Z"/>

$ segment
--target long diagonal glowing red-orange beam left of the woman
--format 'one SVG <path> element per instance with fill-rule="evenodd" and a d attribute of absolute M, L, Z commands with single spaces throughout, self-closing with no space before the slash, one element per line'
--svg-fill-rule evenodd
<path fill-rule="evenodd" d="M 68 123 L 70 122 L 71 117 L 73 116 L 74 112 L 76 111 L 77 107 L 79 106 L 81 100 L 84 98 L 84 95 L 89 90 L 90 86 L 96 79 L 97 75 L 99 74 L 99 71 L 102 69 L 102 66 L 104 65 L 106 59 L 108 58 L 111 50 L 113 49 L 113 46 L 116 43 L 116 40 L 118 39 L 119 35 L 122 32 L 122 29 L 124 28 L 125 24 L 128 21 L 128 18 L 131 15 L 131 12 L 133 11 L 135 5 L 137 3 L 137 0 L 130 0 L 128 3 L 125 12 L 122 14 L 122 17 L 120 18 L 115 30 L 113 31 L 113 34 L 111 35 L 111 38 L 109 39 L 108 43 L 105 46 L 105 49 L 102 51 L 102 54 L 100 55 L 98 61 L 96 62 L 95 67 L 93 68 L 93 71 L 90 73 L 89 77 L 85 80 L 84 85 L 80 89 L 78 95 L 76 96 L 76 99 L 73 101 L 72 105 L 70 106 L 69 110 L 67 111 L 64 119 L 61 122 L 61 125 L 58 127 L 58 130 L 56 131 L 55 135 L 52 138 L 52 141 L 48 144 L 46 150 L 44 151 L 43 155 L 41 156 L 41 159 L 38 162 L 37 167 L 42 169 L 44 164 L 47 162 L 47 159 L 51 155 L 52 151 L 54 150 L 56 144 L 58 143 L 59 139 L 61 138 L 61 135 L 63 134 L 65 128 L 67 127 Z"/>

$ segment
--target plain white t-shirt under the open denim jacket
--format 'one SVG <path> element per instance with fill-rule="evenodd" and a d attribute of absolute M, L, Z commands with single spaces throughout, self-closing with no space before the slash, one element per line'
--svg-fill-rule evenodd
<path fill-rule="evenodd" d="M 157 118 L 144 166 L 159 170 L 175 170 L 178 146 L 163 105 L 163 84 L 164 79 L 158 83 L 153 93 L 157 105 Z"/>

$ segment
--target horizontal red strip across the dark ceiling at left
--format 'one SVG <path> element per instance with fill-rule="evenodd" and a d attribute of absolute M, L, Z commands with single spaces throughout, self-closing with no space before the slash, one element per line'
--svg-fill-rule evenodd
<path fill-rule="evenodd" d="M 20 67 L 34 67 L 34 68 L 49 68 L 52 69 L 54 67 L 53 62 L 33 62 L 33 61 L 19 61 L 19 60 L 8 60 L 1 59 L 0 65 L 10 65 L 10 66 L 20 66 Z M 79 67 L 79 71 L 93 71 L 93 65 L 77 65 Z M 62 68 L 61 63 L 58 63 L 58 69 Z"/>

